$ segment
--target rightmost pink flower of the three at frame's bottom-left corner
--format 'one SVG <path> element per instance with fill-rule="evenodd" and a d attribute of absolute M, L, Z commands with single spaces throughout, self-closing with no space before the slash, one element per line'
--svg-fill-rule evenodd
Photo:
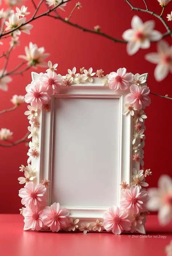
<path fill-rule="evenodd" d="M 66 218 L 68 215 L 69 211 L 66 208 L 61 208 L 59 203 L 53 203 L 44 208 L 42 222 L 50 227 L 51 231 L 58 232 L 69 224 L 69 220 Z"/>

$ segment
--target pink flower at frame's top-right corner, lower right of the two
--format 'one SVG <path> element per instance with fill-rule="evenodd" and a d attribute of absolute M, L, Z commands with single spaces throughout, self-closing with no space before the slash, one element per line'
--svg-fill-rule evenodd
<path fill-rule="evenodd" d="M 133 104 L 136 110 L 142 109 L 143 106 L 149 106 L 151 99 L 148 96 L 150 89 L 146 85 L 141 88 L 138 85 L 131 85 L 130 92 L 126 96 L 126 101 Z"/>

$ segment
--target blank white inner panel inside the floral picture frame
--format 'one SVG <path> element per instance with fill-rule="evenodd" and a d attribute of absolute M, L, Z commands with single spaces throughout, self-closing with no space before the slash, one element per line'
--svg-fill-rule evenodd
<path fill-rule="evenodd" d="M 51 203 L 117 205 L 119 98 L 101 97 L 54 99 Z"/>

